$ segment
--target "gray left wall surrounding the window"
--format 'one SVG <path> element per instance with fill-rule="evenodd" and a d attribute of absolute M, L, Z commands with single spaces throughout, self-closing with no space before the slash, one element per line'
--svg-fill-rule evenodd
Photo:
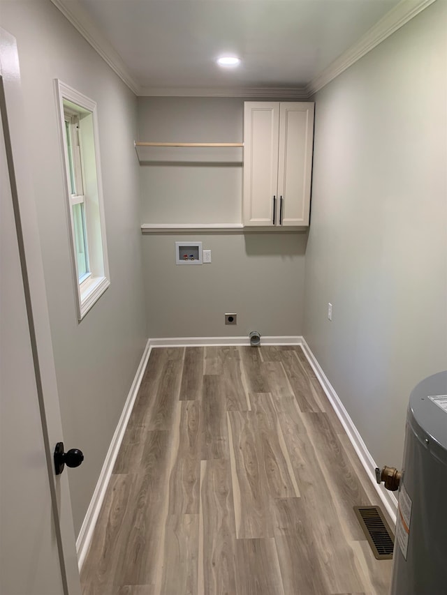
<path fill-rule="evenodd" d="M 136 100 L 50 0 L 2 1 L 0 15 L 19 50 L 64 441 L 85 453 L 82 467 L 68 472 L 78 532 L 147 338 L 133 149 Z M 111 285 L 80 324 L 55 77 L 98 104 Z"/>

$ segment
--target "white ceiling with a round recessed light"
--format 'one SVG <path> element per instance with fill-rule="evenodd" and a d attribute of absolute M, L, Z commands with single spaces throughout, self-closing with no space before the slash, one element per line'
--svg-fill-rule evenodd
<path fill-rule="evenodd" d="M 156 94 L 161 89 L 304 88 L 398 0 L 79 3 L 142 94 Z M 219 68 L 215 59 L 226 52 L 237 54 L 242 66 Z"/>

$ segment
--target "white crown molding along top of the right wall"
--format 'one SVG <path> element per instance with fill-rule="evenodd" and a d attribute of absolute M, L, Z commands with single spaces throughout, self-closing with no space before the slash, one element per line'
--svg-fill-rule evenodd
<path fill-rule="evenodd" d="M 317 77 L 315 77 L 305 88 L 306 96 L 310 97 L 316 91 L 323 89 L 323 86 L 330 83 L 344 70 L 360 60 L 365 54 L 374 49 L 383 40 L 393 35 L 397 29 L 403 27 L 413 17 L 416 17 L 427 6 L 436 0 L 401 0 L 395 8 L 381 18 L 367 33 L 365 33 L 357 43 L 352 45 L 341 56 L 333 61 L 328 68 L 325 68 Z"/>

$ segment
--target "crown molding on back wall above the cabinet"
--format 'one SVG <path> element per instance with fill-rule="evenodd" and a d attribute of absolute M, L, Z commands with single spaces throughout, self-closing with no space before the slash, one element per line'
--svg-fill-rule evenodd
<path fill-rule="evenodd" d="M 307 98 L 305 87 L 241 87 L 213 89 L 212 87 L 142 87 L 140 97 L 284 97 Z"/>

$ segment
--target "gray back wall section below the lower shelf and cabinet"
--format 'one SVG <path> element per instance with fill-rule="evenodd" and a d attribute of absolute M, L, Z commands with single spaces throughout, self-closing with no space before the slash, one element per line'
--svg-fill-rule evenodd
<path fill-rule="evenodd" d="M 300 335 L 304 233 L 143 237 L 149 336 Z M 202 241 L 212 263 L 175 264 L 175 241 Z M 237 313 L 226 326 L 225 312 Z"/>

